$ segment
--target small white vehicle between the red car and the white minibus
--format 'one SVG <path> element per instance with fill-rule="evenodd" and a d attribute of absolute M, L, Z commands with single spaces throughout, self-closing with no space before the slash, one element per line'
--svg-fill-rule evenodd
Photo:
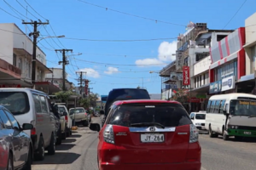
<path fill-rule="evenodd" d="M 206 130 L 205 123 L 206 123 L 206 112 L 192 112 L 189 115 L 191 121 L 199 130 Z"/>

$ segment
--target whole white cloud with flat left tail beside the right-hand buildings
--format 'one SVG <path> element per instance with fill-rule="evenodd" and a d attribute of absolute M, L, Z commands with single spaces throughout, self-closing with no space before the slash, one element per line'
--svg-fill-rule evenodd
<path fill-rule="evenodd" d="M 161 42 L 158 48 L 158 58 L 151 59 L 137 59 L 135 64 L 138 66 L 161 66 L 161 64 L 167 64 L 176 59 L 177 41 L 173 42 Z"/>

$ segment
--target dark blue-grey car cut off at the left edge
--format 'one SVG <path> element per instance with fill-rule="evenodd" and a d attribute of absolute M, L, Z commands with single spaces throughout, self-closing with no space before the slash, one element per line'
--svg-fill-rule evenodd
<path fill-rule="evenodd" d="M 0 169 L 32 169 L 32 140 L 24 133 L 32 128 L 30 123 L 20 127 L 15 116 L 0 106 Z"/>

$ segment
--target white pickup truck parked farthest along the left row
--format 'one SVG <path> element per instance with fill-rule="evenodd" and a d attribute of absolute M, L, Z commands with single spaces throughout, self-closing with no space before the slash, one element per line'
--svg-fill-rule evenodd
<path fill-rule="evenodd" d="M 84 107 L 69 109 L 69 115 L 74 120 L 75 125 L 82 124 L 84 127 L 88 126 L 88 112 L 84 110 Z"/>

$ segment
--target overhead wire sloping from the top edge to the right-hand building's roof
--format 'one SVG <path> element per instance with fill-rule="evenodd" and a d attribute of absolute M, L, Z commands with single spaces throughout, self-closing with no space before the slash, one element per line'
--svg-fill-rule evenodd
<path fill-rule="evenodd" d="M 100 5 L 96 5 L 96 4 L 93 4 L 93 3 L 88 3 L 88 2 L 85 2 L 85 1 L 81 1 L 81 0 L 78 0 L 78 1 L 81 2 L 81 3 L 86 3 L 86 4 L 89 4 L 91 6 L 98 7 L 98 8 L 104 8 L 106 10 L 110 10 L 110 11 L 113 11 L 113 12 L 116 12 L 116 13 L 119 13 L 119 14 L 126 14 L 126 15 L 130 15 L 130 16 L 133 16 L 133 17 L 141 18 L 141 19 L 144 19 L 144 20 L 151 20 L 151 21 L 154 21 L 155 23 L 161 22 L 161 23 L 165 23 L 165 24 L 169 24 L 169 25 L 184 26 L 184 25 L 181 25 L 181 24 L 175 24 L 175 23 L 167 22 L 167 21 L 163 21 L 163 20 L 154 20 L 154 19 L 151 19 L 151 18 L 139 16 L 137 14 L 125 13 L 125 12 L 122 12 L 122 11 L 119 11 L 119 10 L 116 10 L 116 9 L 113 9 L 113 8 L 102 7 Z"/>

